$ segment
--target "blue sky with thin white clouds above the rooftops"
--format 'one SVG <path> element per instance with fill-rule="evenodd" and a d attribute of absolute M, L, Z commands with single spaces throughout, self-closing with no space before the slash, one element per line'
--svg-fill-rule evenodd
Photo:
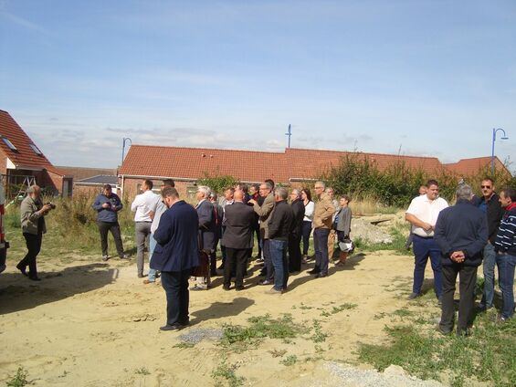
<path fill-rule="evenodd" d="M 57 165 L 134 144 L 489 156 L 516 2 L 0 0 L 0 109 Z M 500 139 L 500 133 L 499 137 Z"/>

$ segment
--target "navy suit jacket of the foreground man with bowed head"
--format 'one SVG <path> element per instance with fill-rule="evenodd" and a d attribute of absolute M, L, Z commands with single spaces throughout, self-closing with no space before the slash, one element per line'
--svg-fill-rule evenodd
<path fill-rule="evenodd" d="M 199 265 L 197 230 L 199 218 L 195 208 L 183 200 L 166 210 L 154 233 L 158 243 L 151 267 L 160 271 L 183 271 Z"/>

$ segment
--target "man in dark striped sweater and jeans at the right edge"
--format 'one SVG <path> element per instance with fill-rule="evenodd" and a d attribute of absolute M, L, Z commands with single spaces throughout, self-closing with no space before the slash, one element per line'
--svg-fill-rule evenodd
<path fill-rule="evenodd" d="M 505 209 L 494 241 L 496 264 L 500 278 L 502 309 L 498 321 L 505 322 L 514 315 L 514 267 L 516 266 L 516 190 L 500 192 L 500 204 Z"/>

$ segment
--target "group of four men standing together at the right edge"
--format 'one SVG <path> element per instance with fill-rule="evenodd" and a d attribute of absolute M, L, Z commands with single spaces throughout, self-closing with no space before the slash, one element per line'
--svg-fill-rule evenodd
<path fill-rule="evenodd" d="M 430 258 L 434 291 L 442 306 L 439 331 L 454 328 L 454 294 L 459 277 L 458 335 L 469 335 L 472 323 L 477 270 L 483 262 L 484 288 L 479 310 L 493 308 L 494 268 L 498 266 L 502 309 L 497 320 L 514 314 L 514 267 L 516 265 L 516 191 L 505 188 L 495 193 L 490 178 L 482 180 L 482 196 L 473 194 L 468 184 L 460 184 L 453 206 L 439 197 L 437 181 L 429 180 L 405 213 L 411 224 L 415 256 L 414 299 L 421 296 L 425 268 Z"/>

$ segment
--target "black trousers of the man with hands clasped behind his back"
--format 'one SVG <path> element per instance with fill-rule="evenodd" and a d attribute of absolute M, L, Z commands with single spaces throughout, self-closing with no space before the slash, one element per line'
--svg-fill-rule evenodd
<path fill-rule="evenodd" d="M 455 320 L 455 307 L 453 298 L 455 294 L 455 283 L 458 276 L 458 291 L 460 300 L 458 301 L 458 324 L 457 330 L 468 329 L 473 309 L 475 306 L 475 284 L 477 283 L 477 267 L 469 267 L 464 264 L 443 265 L 443 293 L 442 293 L 442 313 L 439 326 L 442 330 L 451 331 Z"/>

